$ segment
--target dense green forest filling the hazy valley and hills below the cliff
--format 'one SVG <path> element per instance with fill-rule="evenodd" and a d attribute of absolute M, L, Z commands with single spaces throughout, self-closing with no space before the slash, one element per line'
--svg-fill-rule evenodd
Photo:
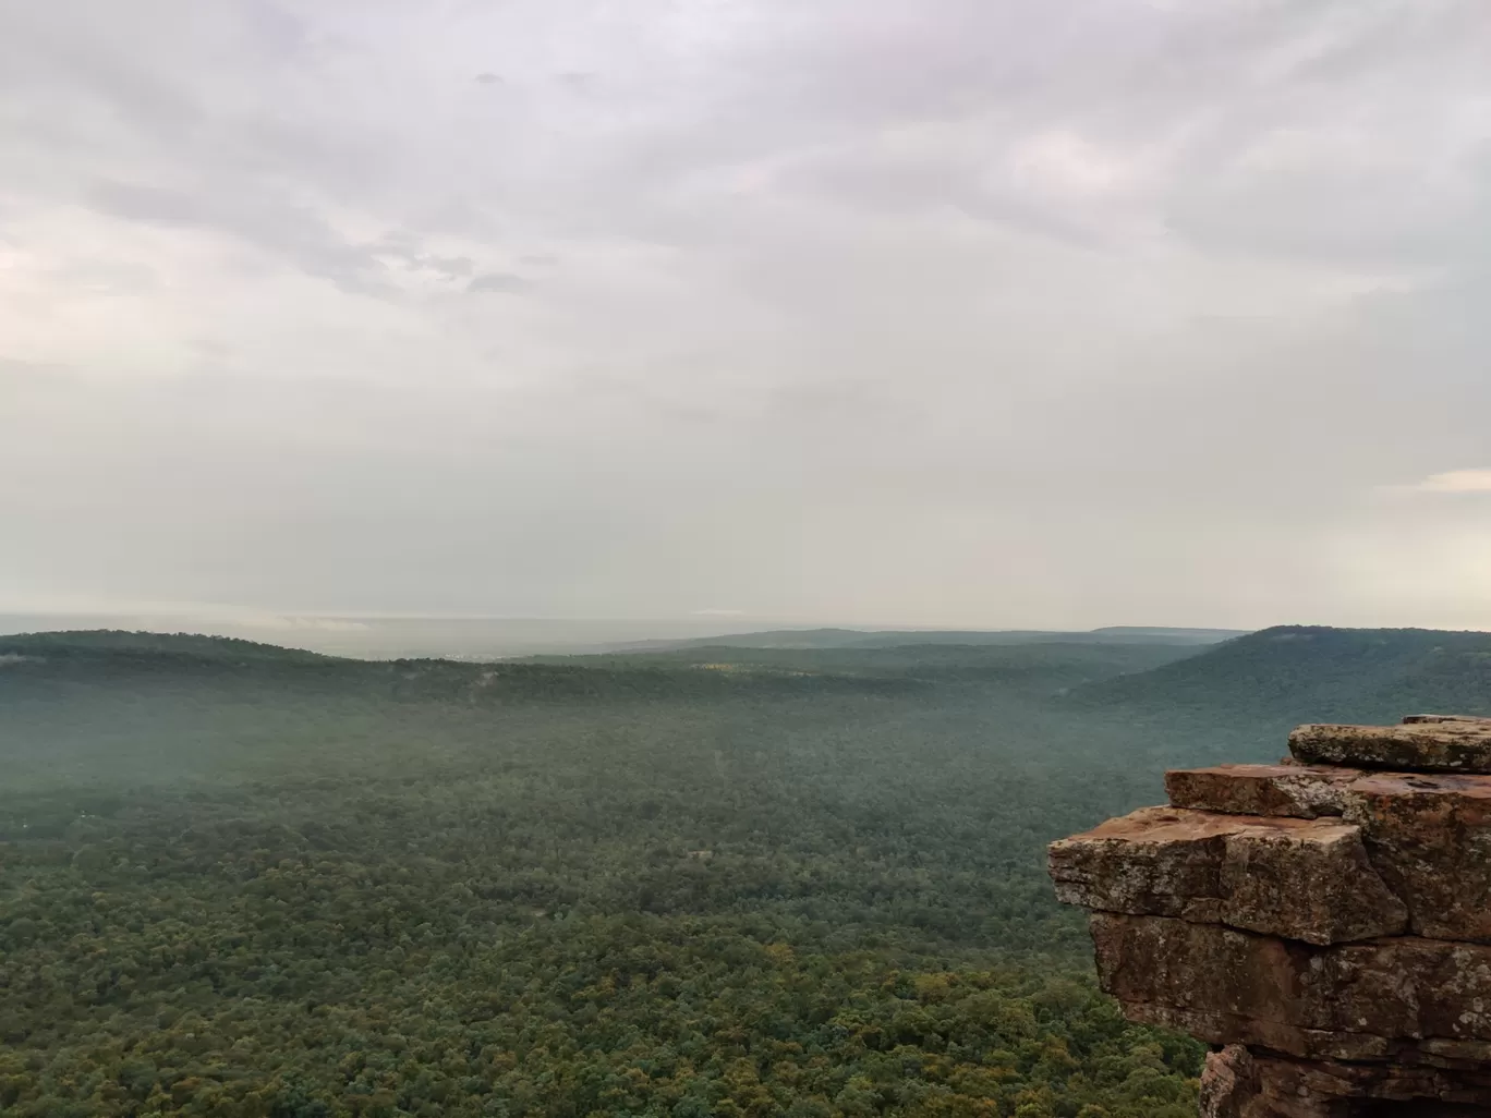
<path fill-rule="evenodd" d="M 1044 844 L 1488 653 L 0 638 L 0 1112 L 1188 1118 Z"/>

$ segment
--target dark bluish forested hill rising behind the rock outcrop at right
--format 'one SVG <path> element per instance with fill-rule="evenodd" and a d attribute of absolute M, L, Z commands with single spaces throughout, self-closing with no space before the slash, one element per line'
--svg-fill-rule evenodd
<path fill-rule="evenodd" d="M 1278 626 L 1084 684 L 1069 702 L 1249 724 L 1491 714 L 1491 634 Z"/>

